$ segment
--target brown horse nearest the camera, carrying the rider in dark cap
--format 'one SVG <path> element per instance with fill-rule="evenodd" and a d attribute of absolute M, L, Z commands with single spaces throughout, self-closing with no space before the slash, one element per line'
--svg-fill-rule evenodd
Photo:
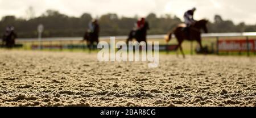
<path fill-rule="evenodd" d="M 168 43 L 172 38 L 172 34 L 174 34 L 179 43 L 177 45 L 177 49 L 180 48 L 180 51 L 183 54 L 183 57 L 185 58 L 185 54 L 183 52 L 181 44 L 183 43 L 184 40 L 189 40 L 189 41 L 196 40 L 197 43 L 199 43 L 200 48 L 202 49 L 203 47 L 201 43 L 201 29 L 203 29 L 205 33 L 208 33 L 207 23 L 208 23 L 208 20 L 199 20 L 196 23 L 194 23 L 191 27 L 188 28 L 189 36 L 187 35 L 187 32 L 184 31 L 185 26 L 182 24 L 179 24 L 171 33 L 168 33 L 168 38 L 166 41 Z"/>

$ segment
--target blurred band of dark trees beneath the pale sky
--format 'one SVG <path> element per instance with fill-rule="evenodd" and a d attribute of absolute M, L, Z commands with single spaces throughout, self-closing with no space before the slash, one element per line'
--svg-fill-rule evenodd
<path fill-rule="evenodd" d="M 58 11 L 47 10 L 43 15 L 31 18 L 22 19 L 15 16 L 4 16 L 0 22 L 1 34 L 7 26 L 14 26 L 18 37 L 37 37 L 38 24 L 44 25 L 44 37 L 77 37 L 82 36 L 88 23 L 92 20 L 92 15 L 85 13 L 79 18 L 61 14 Z M 127 35 L 133 29 L 137 17 L 128 18 L 125 16 L 119 17 L 117 14 L 105 14 L 98 18 L 100 23 L 101 36 L 110 35 Z M 163 15 L 157 17 L 151 13 L 146 17 L 150 24 L 148 34 L 164 34 L 181 23 L 181 19 L 176 16 Z M 214 22 L 209 23 L 209 32 L 255 32 L 256 25 L 247 26 L 245 23 L 238 25 L 231 20 L 223 20 L 220 15 L 214 17 Z"/>

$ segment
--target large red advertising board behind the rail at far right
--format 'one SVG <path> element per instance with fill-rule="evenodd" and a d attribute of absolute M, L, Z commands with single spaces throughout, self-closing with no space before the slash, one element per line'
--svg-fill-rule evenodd
<path fill-rule="evenodd" d="M 248 43 L 248 44 L 247 44 Z M 222 52 L 250 52 L 256 51 L 256 40 L 218 40 L 218 51 Z"/>

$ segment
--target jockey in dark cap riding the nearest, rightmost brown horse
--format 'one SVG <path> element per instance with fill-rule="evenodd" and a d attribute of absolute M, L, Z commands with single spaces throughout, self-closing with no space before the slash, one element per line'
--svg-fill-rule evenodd
<path fill-rule="evenodd" d="M 196 11 L 196 7 L 193 7 L 192 10 L 188 10 L 187 12 L 185 12 L 184 19 L 185 19 L 185 24 L 187 25 L 187 27 L 190 27 L 193 23 L 196 22 L 193 18 L 195 11 Z"/>

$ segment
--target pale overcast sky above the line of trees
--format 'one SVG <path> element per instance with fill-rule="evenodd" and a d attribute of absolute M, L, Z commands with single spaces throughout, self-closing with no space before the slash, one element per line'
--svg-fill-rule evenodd
<path fill-rule="evenodd" d="M 195 19 L 213 20 L 215 14 L 235 23 L 256 24 L 256 0 L 0 0 L 0 17 L 15 15 L 26 17 L 29 6 L 36 16 L 48 9 L 58 10 L 70 16 L 89 12 L 94 17 L 109 12 L 119 16 L 146 16 L 172 14 L 183 19 L 186 10 L 197 7 Z"/>

